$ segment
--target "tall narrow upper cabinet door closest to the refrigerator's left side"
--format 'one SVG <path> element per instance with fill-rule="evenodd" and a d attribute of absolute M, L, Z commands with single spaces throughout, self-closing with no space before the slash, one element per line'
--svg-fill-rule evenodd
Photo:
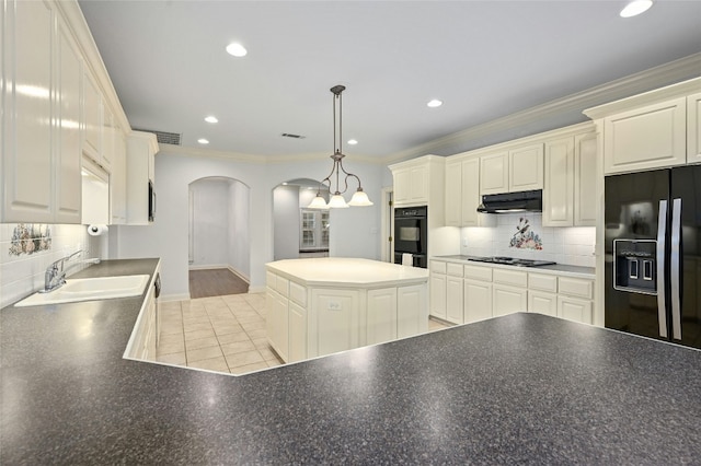
<path fill-rule="evenodd" d="M 574 225 L 596 226 L 596 132 L 574 138 Z"/>

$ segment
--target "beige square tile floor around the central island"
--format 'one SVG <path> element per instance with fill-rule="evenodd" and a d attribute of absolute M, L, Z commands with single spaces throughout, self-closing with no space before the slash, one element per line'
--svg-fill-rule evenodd
<path fill-rule="evenodd" d="M 159 303 L 159 362 L 235 375 L 281 365 L 267 343 L 265 293 Z M 429 319 L 428 330 L 447 326 Z"/>

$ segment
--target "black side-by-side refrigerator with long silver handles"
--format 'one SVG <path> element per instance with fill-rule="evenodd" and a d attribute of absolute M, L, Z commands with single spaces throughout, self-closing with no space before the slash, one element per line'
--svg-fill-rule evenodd
<path fill-rule="evenodd" d="M 607 328 L 701 348 L 701 166 L 605 182 Z"/>

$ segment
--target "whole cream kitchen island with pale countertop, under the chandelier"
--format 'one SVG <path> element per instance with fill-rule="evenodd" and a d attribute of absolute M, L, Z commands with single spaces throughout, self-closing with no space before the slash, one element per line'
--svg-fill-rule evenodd
<path fill-rule="evenodd" d="M 428 270 L 322 257 L 266 264 L 267 339 L 285 362 L 428 330 Z"/>

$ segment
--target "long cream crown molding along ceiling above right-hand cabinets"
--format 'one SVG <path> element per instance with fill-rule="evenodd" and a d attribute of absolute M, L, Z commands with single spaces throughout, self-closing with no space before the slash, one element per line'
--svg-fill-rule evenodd
<path fill-rule="evenodd" d="M 426 153 L 441 152 L 441 149 L 446 148 L 456 145 L 467 147 L 471 141 L 478 141 L 484 137 L 493 136 L 502 131 L 513 130 L 514 128 L 532 124 L 538 119 L 547 119 L 549 117 L 555 117 L 566 113 L 584 112 L 589 107 L 595 107 L 690 78 L 699 77 L 701 75 L 700 70 L 701 53 L 698 53 L 562 98 L 507 115 L 503 118 L 497 118 L 482 125 L 476 125 L 471 128 L 447 135 L 443 138 L 434 139 L 405 151 L 388 155 L 382 160 L 384 163 L 390 164 Z"/>

